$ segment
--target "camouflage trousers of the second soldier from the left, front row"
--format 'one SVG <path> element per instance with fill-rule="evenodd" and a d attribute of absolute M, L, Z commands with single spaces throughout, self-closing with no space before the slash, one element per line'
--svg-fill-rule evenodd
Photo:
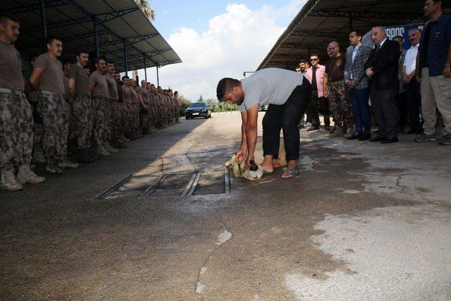
<path fill-rule="evenodd" d="M 69 108 L 63 95 L 39 93 L 39 109 L 42 114 L 42 150 L 49 158 L 62 158 L 67 154 L 69 132 Z"/>

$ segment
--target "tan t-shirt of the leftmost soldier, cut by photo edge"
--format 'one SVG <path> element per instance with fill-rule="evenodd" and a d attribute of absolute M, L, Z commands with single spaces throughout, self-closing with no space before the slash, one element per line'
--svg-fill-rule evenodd
<path fill-rule="evenodd" d="M 0 87 L 24 90 L 22 58 L 16 47 L 0 41 Z"/>

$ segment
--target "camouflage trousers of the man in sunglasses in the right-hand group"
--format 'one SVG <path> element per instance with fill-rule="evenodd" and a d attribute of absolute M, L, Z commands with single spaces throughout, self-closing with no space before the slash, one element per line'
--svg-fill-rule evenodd
<path fill-rule="evenodd" d="M 352 116 L 351 102 L 346 92 L 345 82 L 330 82 L 329 109 L 332 113 L 333 122 L 338 128 L 354 128 L 354 117 Z"/>

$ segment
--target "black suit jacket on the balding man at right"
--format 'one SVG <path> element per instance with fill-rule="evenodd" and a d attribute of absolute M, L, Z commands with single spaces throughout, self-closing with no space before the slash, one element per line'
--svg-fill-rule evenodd
<path fill-rule="evenodd" d="M 400 88 L 397 78 L 398 61 L 400 60 L 400 44 L 387 39 L 381 49 L 376 53 L 376 48 L 371 51 L 364 68 L 373 68 L 373 78 L 370 86 L 376 89 Z"/>

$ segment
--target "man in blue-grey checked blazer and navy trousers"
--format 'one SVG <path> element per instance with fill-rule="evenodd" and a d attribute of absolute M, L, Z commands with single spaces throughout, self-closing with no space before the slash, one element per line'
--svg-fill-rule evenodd
<path fill-rule="evenodd" d="M 362 32 L 350 32 L 350 48 L 346 54 L 345 84 L 349 91 L 352 114 L 354 115 L 355 134 L 348 140 L 371 139 L 371 111 L 368 104 L 368 78 L 365 75 L 364 63 L 369 58 L 371 48 L 362 45 Z"/>

